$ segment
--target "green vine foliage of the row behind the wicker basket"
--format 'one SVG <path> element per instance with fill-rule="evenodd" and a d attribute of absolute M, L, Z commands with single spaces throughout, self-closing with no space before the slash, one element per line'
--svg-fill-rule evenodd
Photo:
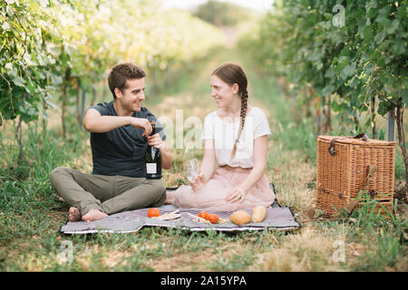
<path fill-rule="evenodd" d="M 335 95 L 332 107 L 353 117 L 378 97 L 384 115 L 408 102 L 406 1 L 277 1 L 256 42 L 241 42 L 262 70 L 294 87 Z M 343 18 L 342 18 L 343 17 Z M 341 23 L 344 20 L 344 23 Z"/>

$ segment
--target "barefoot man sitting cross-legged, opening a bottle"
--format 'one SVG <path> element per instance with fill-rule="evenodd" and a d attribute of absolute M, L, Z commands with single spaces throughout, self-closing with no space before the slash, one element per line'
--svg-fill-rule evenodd
<path fill-rule="evenodd" d="M 145 179 L 147 144 L 160 149 L 163 169 L 172 165 L 160 122 L 141 106 L 145 76 L 135 64 L 115 65 L 108 78 L 113 102 L 99 103 L 86 111 L 83 127 L 91 132 L 92 174 L 63 167 L 51 172 L 53 189 L 72 206 L 70 221 L 93 221 L 164 203 L 162 180 Z M 150 121 L 159 125 L 153 136 Z"/>

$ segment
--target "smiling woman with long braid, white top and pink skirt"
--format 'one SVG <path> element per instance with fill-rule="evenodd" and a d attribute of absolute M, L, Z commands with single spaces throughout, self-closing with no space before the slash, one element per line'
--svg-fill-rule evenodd
<path fill-rule="evenodd" d="M 212 211 L 268 207 L 275 193 L 265 175 L 267 118 L 248 104 L 248 80 L 238 64 L 222 64 L 211 74 L 210 85 L 219 109 L 204 121 L 199 177 L 189 186 L 168 191 L 166 202 Z"/>

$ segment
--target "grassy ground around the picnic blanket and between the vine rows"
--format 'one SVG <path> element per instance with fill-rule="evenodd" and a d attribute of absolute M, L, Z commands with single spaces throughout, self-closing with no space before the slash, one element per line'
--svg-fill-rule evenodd
<path fill-rule="evenodd" d="M 279 203 L 290 206 L 302 223 L 299 230 L 190 233 L 143 227 L 131 234 L 64 236 L 59 228 L 69 206 L 53 192 L 49 172 L 58 166 L 90 172 L 92 159 L 88 133 L 73 123 L 68 126 L 68 141 L 63 140 L 54 116 L 45 139 L 40 126 L 24 129 L 23 160 L 17 161 L 14 141 L 3 137 L 1 142 L 6 154 L 0 157 L 0 270 L 406 272 L 406 205 L 395 204 L 396 214 L 388 218 L 374 214 L 370 202 L 350 218 L 313 222 L 306 218 L 315 201 L 316 136 L 310 123 L 293 121 L 289 103 L 275 83 L 258 75 L 237 51 L 214 53 L 197 63 L 197 69 L 178 78 L 176 89 L 151 101 L 148 95 L 148 108 L 172 120 L 176 109 L 183 110 L 184 118 L 195 115 L 203 120 L 216 109 L 209 96 L 209 74 L 225 61 L 243 63 L 251 84 L 249 102 L 267 114 L 272 130 L 267 178 L 276 185 Z M 164 172 L 167 187 L 186 184 L 183 161 L 202 157 L 202 151 L 194 148 L 172 153 L 173 168 Z M 67 242 L 72 245 L 71 262 L 63 256 Z M 344 251 L 344 262 L 335 262 L 336 250 Z"/>

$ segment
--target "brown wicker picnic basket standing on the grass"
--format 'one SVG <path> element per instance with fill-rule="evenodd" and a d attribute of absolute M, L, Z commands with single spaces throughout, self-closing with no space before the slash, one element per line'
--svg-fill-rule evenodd
<path fill-rule="evenodd" d="M 361 190 L 367 190 L 392 211 L 395 145 L 368 139 L 365 134 L 318 136 L 316 208 L 332 216 L 357 198 Z M 359 203 L 357 208 L 361 206 Z"/>

